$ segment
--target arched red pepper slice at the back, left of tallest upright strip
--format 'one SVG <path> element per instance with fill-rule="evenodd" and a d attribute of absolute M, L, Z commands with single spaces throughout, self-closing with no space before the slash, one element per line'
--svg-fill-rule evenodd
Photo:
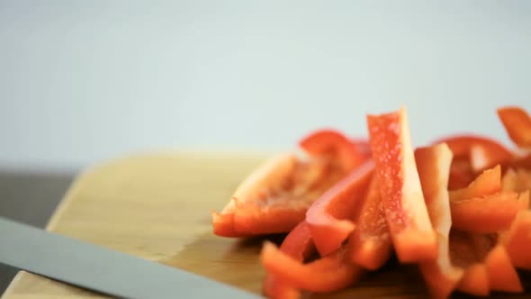
<path fill-rule="evenodd" d="M 348 171 L 371 157 L 366 152 L 365 142 L 354 142 L 339 131 L 324 129 L 302 138 L 299 146 L 311 155 L 338 157 L 340 165 Z"/>

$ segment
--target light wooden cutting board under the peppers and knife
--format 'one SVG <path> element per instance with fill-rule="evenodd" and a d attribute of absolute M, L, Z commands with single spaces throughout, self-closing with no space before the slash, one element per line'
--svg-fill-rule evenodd
<path fill-rule="evenodd" d="M 241 153 L 166 153 L 120 159 L 90 168 L 76 178 L 47 230 L 261 294 L 265 272 L 258 262 L 258 254 L 265 239 L 214 236 L 211 211 L 220 211 L 238 183 L 267 157 Z M 282 237 L 267 239 L 279 242 Z M 529 292 L 531 277 L 522 278 Z M 347 290 L 309 295 L 311 298 L 426 296 L 417 269 L 399 267 L 393 262 Z M 507 294 L 499 296 L 508 297 Z M 103 296 L 21 271 L 3 298 L 89 297 Z"/>

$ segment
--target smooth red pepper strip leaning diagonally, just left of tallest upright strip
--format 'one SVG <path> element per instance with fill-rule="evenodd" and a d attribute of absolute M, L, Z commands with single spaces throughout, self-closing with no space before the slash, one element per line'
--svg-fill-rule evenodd
<path fill-rule="evenodd" d="M 339 249 L 355 229 L 351 221 L 373 177 L 374 163 L 367 160 L 320 197 L 306 213 L 311 237 L 321 256 Z"/>

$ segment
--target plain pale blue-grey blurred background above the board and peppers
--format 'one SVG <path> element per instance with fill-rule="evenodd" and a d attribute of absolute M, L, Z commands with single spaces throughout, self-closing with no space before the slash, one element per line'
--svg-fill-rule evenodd
<path fill-rule="evenodd" d="M 287 149 L 406 104 L 413 142 L 531 109 L 529 1 L 0 1 L 0 165 Z M 509 143 L 509 142 L 508 142 Z"/>

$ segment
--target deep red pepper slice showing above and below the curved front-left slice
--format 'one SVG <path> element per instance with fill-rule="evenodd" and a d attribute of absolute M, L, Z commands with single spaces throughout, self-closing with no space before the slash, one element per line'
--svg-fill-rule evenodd
<path fill-rule="evenodd" d="M 308 224 L 304 221 L 300 222 L 293 231 L 290 231 L 282 242 L 280 250 L 300 262 L 310 258 L 315 247 L 311 240 Z M 263 291 L 267 297 L 276 299 L 296 299 L 301 296 L 299 289 L 286 284 L 278 276 L 270 273 L 266 274 Z"/>

